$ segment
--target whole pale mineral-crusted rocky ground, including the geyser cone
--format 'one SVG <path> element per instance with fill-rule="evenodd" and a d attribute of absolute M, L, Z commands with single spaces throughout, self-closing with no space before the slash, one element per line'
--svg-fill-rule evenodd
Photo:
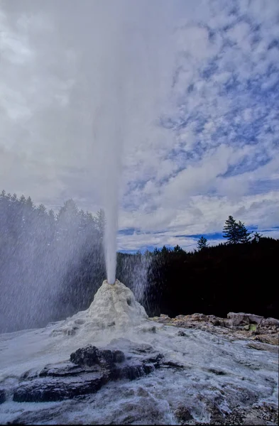
<path fill-rule="evenodd" d="M 0 423 L 278 425 L 278 331 L 245 313 L 148 319 L 104 283 L 89 310 L 0 336 Z"/>

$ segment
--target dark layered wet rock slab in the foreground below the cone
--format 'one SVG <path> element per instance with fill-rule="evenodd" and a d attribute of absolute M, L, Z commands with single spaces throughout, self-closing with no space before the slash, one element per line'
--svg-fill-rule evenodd
<path fill-rule="evenodd" d="M 161 354 L 149 354 L 141 359 L 130 356 L 126 361 L 124 352 L 118 349 L 89 345 L 73 352 L 70 362 L 50 364 L 37 373 L 24 373 L 13 400 L 42 403 L 96 393 L 109 381 L 135 380 L 151 373 L 162 359 Z"/>

